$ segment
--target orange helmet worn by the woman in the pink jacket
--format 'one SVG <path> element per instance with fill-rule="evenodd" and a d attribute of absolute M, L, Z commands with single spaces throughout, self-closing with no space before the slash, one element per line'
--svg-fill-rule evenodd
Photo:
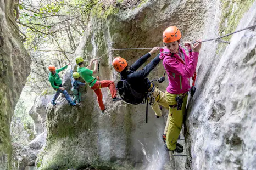
<path fill-rule="evenodd" d="M 176 26 L 169 26 L 163 32 L 163 42 L 170 43 L 181 39 L 181 32 Z"/>

